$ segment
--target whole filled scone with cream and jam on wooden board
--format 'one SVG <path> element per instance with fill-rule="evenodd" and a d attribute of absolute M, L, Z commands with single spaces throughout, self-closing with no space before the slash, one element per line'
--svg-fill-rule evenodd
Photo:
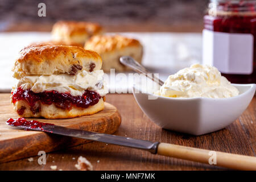
<path fill-rule="evenodd" d="M 28 46 L 13 72 L 11 102 L 21 117 L 48 119 L 90 115 L 104 109 L 108 92 L 101 57 L 75 46 Z"/>

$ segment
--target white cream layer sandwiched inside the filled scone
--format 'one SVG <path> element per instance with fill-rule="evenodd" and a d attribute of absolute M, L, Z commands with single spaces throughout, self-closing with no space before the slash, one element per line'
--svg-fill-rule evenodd
<path fill-rule="evenodd" d="M 72 96 L 82 96 L 85 90 L 95 91 L 100 96 L 105 96 L 108 92 L 102 70 L 81 71 L 74 76 L 67 74 L 24 76 L 16 86 L 31 89 L 35 93 L 56 90 L 60 93 L 68 92 Z"/>

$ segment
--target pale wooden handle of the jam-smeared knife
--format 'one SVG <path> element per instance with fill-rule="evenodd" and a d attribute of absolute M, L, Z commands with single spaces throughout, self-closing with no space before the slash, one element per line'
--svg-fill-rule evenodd
<path fill-rule="evenodd" d="M 169 143 L 160 143 L 157 154 L 238 170 L 256 170 L 256 157 L 254 156 L 229 154 Z"/>

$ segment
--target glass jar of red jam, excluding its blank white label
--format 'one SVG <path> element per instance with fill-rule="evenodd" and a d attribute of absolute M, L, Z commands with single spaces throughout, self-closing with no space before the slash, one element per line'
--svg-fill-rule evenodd
<path fill-rule="evenodd" d="M 256 83 L 256 1 L 216 0 L 211 2 L 208 14 L 204 16 L 206 30 L 253 35 L 253 72 L 250 74 L 222 73 L 222 75 L 233 83 Z"/>

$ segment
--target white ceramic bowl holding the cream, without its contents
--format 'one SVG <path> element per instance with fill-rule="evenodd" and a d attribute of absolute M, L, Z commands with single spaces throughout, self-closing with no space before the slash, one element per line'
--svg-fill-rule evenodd
<path fill-rule="evenodd" d="M 240 94 L 230 98 L 169 98 L 141 93 L 137 84 L 133 94 L 143 112 L 163 129 L 203 135 L 223 129 L 236 121 L 250 104 L 255 84 L 232 84 Z"/>

